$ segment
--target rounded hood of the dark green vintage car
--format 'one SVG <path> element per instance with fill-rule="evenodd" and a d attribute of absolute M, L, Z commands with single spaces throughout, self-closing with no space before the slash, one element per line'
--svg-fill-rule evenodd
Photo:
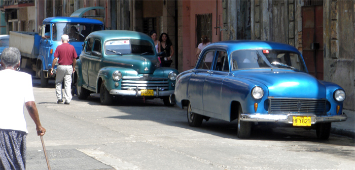
<path fill-rule="evenodd" d="M 140 56 L 140 55 L 114 55 L 108 56 L 105 62 L 111 63 L 111 66 L 125 67 L 135 70 L 139 74 L 152 74 L 159 67 L 156 56 Z"/>

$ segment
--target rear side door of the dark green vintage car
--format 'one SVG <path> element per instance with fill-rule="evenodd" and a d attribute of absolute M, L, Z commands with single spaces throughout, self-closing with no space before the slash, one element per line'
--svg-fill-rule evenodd
<path fill-rule="evenodd" d="M 91 51 L 92 51 L 92 46 L 93 46 L 93 38 L 88 38 L 86 43 L 86 47 L 84 49 L 84 52 L 81 55 L 81 72 L 83 76 L 83 85 L 87 86 L 89 84 L 89 76 L 88 76 L 88 68 L 89 68 L 89 62 L 91 58 Z"/>

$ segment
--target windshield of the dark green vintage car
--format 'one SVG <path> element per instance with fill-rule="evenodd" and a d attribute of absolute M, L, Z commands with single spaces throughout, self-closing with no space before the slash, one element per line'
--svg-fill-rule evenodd
<path fill-rule="evenodd" d="M 154 54 L 154 46 L 146 40 L 119 39 L 105 42 L 105 53 L 113 54 Z"/>

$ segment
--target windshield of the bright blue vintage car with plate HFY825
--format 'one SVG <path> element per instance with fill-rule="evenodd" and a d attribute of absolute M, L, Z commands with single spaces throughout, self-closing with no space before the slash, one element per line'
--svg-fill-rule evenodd
<path fill-rule="evenodd" d="M 286 50 L 236 50 L 231 53 L 232 70 L 284 68 L 306 72 L 302 56 Z"/>

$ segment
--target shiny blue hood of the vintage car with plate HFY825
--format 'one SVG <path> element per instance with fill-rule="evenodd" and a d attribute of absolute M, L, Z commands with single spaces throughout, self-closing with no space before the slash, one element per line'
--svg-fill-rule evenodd
<path fill-rule="evenodd" d="M 291 70 L 236 71 L 235 77 L 267 86 L 271 97 L 326 98 L 326 86 L 315 77 Z"/>

